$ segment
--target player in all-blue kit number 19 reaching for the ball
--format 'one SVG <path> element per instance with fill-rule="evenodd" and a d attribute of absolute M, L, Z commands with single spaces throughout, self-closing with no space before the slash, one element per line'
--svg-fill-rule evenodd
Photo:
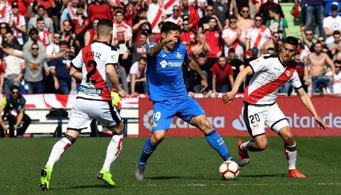
<path fill-rule="evenodd" d="M 180 26 L 165 22 L 161 27 L 161 40 L 147 46 L 146 78 L 149 97 L 153 101 L 152 137 L 145 142 L 135 170 L 135 178 L 142 180 L 148 158 L 157 145 L 166 137 L 174 116 L 198 127 L 209 145 L 226 160 L 244 166 L 248 160 L 231 158 L 223 138 L 208 122 L 203 108 L 189 97 L 182 74 L 183 63 L 201 76 L 202 91 L 207 87 L 207 78 L 196 62 L 189 56 L 184 45 L 179 43 Z"/>

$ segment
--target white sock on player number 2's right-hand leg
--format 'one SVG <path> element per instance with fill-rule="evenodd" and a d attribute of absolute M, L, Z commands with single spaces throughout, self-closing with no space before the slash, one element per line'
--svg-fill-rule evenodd
<path fill-rule="evenodd" d="M 111 139 L 108 149 L 107 149 L 107 156 L 104 160 L 103 168 L 110 171 L 111 164 L 116 160 L 118 154 L 122 150 L 122 141 L 123 135 L 114 135 Z"/>

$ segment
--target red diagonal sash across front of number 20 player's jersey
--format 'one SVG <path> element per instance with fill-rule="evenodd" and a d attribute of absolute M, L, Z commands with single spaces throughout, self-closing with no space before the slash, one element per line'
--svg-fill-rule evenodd
<path fill-rule="evenodd" d="M 290 71 L 289 76 L 286 75 L 286 71 Z M 284 83 L 286 83 L 293 76 L 294 72 L 295 72 L 295 69 L 292 68 L 291 65 L 288 65 L 286 69 L 284 70 L 284 72 L 279 77 L 277 77 L 273 81 L 270 81 L 269 83 L 266 83 L 262 87 L 252 91 L 249 95 L 247 95 L 248 93 L 248 86 L 247 86 L 245 93 L 244 93 L 246 102 L 250 104 L 256 104 L 258 100 L 264 98 L 266 95 L 274 92 L 276 89 L 283 86 Z"/>

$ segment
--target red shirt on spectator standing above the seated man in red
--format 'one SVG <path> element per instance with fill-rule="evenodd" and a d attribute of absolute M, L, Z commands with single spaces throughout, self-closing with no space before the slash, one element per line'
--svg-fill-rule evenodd
<path fill-rule="evenodd" d="M 220 43 L 220 33 L 218 31 L 206 31 L 206 41 L 211 48 L 211 52 L 207 53 L 207 57 L 218 57 L 217 54 L 223 51 L 223 45 Z"/>

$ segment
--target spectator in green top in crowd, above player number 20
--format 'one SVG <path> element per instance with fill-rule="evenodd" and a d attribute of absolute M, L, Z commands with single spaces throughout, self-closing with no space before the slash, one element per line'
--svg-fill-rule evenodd
<path fill-rule="evenodd" d="M 266 21 L 265 26 L 270 29 L 270 32 L 278 32 L 280 39 L 285 39 L 289 35 L 288 22 L 282 18 L 276 8 L 269 10 L 269 20 Z"/>

